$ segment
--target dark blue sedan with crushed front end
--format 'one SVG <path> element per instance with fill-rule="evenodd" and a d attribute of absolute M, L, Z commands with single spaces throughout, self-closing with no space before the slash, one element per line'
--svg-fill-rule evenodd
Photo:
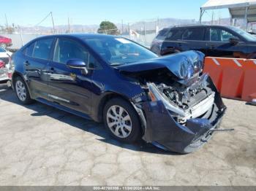
<path fill-rule="evenodd" d="M 15 53 L 12 82 L 23 104 L 104 122 L 120 141 L 189 153 L 211 138 L 226 109 L 203 59 L 195 51 L 159 58 L 118 36 L 44 36 Z"/>

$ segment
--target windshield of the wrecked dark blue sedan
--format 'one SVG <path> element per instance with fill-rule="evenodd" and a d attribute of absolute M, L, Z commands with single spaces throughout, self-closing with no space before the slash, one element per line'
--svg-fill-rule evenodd
<path fill-rule="evenodd" d="M 84 41 L 111 66 L 158 57 L 145 47 L 117 36 L 84 39 Z"/>

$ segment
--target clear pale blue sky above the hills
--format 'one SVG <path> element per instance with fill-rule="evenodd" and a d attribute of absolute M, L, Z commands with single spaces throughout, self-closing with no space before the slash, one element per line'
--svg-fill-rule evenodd
<path fill-rule="evenodd" d="M 20 26 L 35 26 L 49 12 L 53 12 L 56 25 L 67 25 L 69 17 L 72 24 L 99 24 L 102 20 L 113 23 L 134 23 L 174 17 L 182 19 L 199 18 L 200 6 L 207 0 L 5 0 L 1 1 L 0 25 L 8 23 Z M 7 11 L 9 10 L 9 11 Z M 217 12 L 219 16 L 226 16 Z M 222 15 L 221 15 L 222 14 Z M 210 20 L 211 13 L 206 14 Z M 48 18 L 41 26 L 50 26 Z"/>

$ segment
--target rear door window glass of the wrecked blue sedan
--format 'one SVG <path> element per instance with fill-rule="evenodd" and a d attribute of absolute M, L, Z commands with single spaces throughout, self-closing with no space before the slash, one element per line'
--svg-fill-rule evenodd
<path fill-rule="evenodd" d="M 41 39 L 35 42 L 32 57 L 48 60 L 50 56 L 50 47 L 53 39 Z"/>

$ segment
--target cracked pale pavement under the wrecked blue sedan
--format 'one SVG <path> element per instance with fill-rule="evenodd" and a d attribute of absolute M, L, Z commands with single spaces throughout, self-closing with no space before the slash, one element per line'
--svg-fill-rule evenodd
<path fill-rule="evenodd" d="M 102 124 L 23 106 L 0 85 L 0 185 L 256 186 L 256 106 L 225 99 L 222 128 L 189 155 L 121 144 Z"/>

